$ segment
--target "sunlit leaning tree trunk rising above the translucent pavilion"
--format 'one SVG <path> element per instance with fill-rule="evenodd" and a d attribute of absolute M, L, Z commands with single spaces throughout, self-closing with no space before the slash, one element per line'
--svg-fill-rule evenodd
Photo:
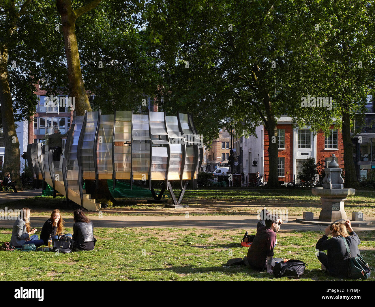
<path fill-rule="evenodd" d="M 69 96 L 75 99 L 77 116 L 84 115 L 85 110 L 91 111 L 81 72 L 80 54 L 78 53 L 75 35 L 76 14 L 72 9 L 71 0 L 56 0 L 57 11 L 61 16 L 64 34 L 66 62 L 68 64 Z"/>

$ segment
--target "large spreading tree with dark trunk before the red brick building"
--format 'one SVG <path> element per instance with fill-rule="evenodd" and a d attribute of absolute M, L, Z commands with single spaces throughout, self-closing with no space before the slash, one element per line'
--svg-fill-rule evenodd
<path fill-rule="evenodd" d="M 144 13 L 165 75 L 163 108 L 191 111 L 210 141 L 220 127 L 268 135 L 269 187 L 278 187 L 277 119 L 306 123 L 314 21 L 305 1 L 154 0 Z M 162 22 L 160 22 L 162 21 Z"/>

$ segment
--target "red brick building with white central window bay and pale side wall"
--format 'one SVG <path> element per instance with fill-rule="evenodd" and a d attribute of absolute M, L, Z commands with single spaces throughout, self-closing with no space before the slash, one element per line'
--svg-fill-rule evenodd
<path fill-rule="evenodd" d="M 317 163 L 328 165 L 330 157 L 335 154 L 341 168 L 344 168 L 344 146 L 342 144 L 341 131 L 330 127 L 330 135 L 323 131 L 314 135 L 313 131 L 306 128 L 293 127 L 291 118 L 282 116 L 278 120 L 278 177 L 280 181 L 290 182 L 302 170 L 302 162 L 306 158 L 314 157 Z M 254 178 L 256 172 L 265 175 L 267 181 L 269 175 L 269 139 L 268 132 L 263 125 L 256 129 L 258 138 L 243 137 L 243 172 L 245 181 Z M 254 167 L 253 161 L 256 161 Z"/>

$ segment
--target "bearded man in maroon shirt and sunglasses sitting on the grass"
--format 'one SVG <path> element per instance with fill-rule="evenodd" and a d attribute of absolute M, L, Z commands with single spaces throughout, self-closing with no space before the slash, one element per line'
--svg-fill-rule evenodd
<path fill-rule="evenodd" d="M 272 274 L 272 267 L 276 261 L 282 261 L 281 258 L 273 258 L 273 248 L 276 243 L 276 232 L 280 230 L 283 224 L 281 218 L 275 214 L 267 214 L 266 226 L 259 227 L 254 241 L 248 250 L 248 262 L 252 268 Z"/>

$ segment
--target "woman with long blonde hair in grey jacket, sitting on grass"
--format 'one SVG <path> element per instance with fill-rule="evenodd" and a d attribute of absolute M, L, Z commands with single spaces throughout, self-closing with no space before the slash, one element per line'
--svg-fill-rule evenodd
<path fill-rule="evenodd" d="M 13 224 L 10 245 L 14 247 L 22 247 L 24 244 L 35 244 L 36 247 L 43 245 L 44 241 L 34 235 L 36 228 L 30 228 L 30 209 L 22 208 L 20 216 Z"/>

